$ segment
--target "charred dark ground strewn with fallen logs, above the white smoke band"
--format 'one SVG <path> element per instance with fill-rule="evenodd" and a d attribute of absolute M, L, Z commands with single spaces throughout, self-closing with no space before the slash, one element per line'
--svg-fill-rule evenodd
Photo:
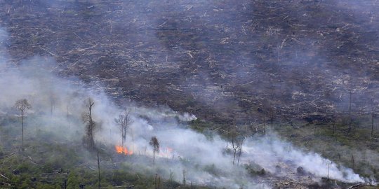
<path fill-rule="evenodd" d="M 17 62 L 214 122 L 371 113 L 377 1 L 0 1 Z"/>

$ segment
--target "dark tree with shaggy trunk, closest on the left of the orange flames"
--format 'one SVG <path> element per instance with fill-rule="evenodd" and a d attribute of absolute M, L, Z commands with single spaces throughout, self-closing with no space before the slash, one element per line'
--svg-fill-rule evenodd
<path fill-rule="evenodd" d="M 93 99 L 88 98 L 86 100 L 86 107 L 88 108 L 88 112 L 82 115 L 84 123 L 86 123 L 86 144 L 88 148 L 95 147 L 95 140 L 93 139 L 93 131 L 95 130 L 96 123 L 92 117 L 92 109 L 95 102 Z"/>

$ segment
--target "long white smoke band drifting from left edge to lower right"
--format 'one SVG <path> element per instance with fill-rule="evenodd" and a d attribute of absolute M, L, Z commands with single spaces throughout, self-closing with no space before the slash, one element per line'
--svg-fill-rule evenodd
<path fill-rule="evenodd" d="M 217 134 L 206 137 L 190 130 L 183 122 L 195 120 L 192 114 L 177 113 L 168 108 L 149 109 L 133 103 L 117 106 L 99 89 L 88 89 L 74 78 L 66 80 L 54 76 L 48 71 L 49 67 L 55 66 L 52 58 L 33 57 L 16 63 L 19 65 L 13 66 L 7 61 L 6 54 L 1 55 L 0 111 L 16 114 L 18 112 L 13 110 L 15 101 L 27 99 L 33 106 L 28 113 L 31 120 L 27 123 L 27 130 L 38 127 L 56 132 L 65 139 L 81 141 L 84 134 L 81 114 L 86 112 L 84 101 L 91 97 L 95 102 L 93 118 L 98 127 L 95 133 L 97 144 L 120 144 L 121 136 L 114 119 L 123 109 L 128 109 L 133 123 L 128 130 L 127 148 L 133 150 L 134 155 L 151 156 L 149 139 L 157 136 L 161 144 L 157 167 L 164 169 L 166 179 L 171 170 L 173 179 L 181 182 L 184 170 L 187 183 L 227 188 L 270 187 L 270 183 L 255 180 L 244 167 L 232 165 L 232 154 L 227 153 L 231 150 L 230 142 Z M 135 160 L 135 163 L 151 167 L 151 159 L 145 160 Z M 352 169 L 335 165 L 316 153 L 302 152 L 277 139 L 275 134 L 245 140 L 241 165 L 250 164 L 278 176 L 295 172 L 301 166 L 315 181 L 329 176 L 344 182 L 364 182 L 364 178 L 354 174 Z M 281 165 L 283 171 L 277 173 L 277 166 Z"/>

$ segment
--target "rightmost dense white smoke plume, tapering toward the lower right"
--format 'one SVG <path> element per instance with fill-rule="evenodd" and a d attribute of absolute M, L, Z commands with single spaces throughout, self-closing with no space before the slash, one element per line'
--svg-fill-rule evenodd
<path fill-rule="evenodd" d="M 244 149 L 246 158 L 251 158 L 270 172 L 275 172 L 279 162 L 290 162 L 292 169 L 303 167 L 317 178 L 329 177 L 348 183 L 364 182 L 364 178 L 354 174 L 352 169 L 336 165 L 317 153 L 300 151 L 288 142 L 279 140 L 275 134 L 248 139 Z"/>

